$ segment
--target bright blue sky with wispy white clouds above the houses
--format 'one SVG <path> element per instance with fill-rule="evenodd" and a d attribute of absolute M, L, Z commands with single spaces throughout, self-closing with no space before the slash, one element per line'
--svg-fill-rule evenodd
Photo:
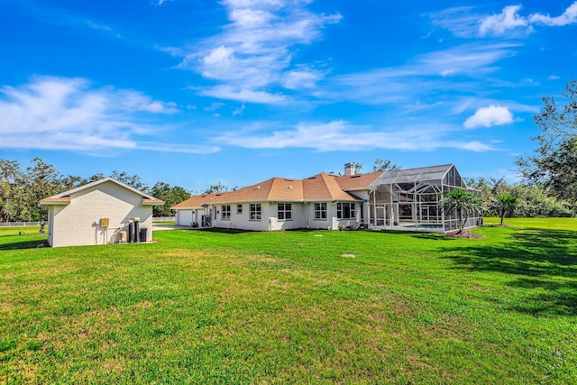
<path fill-rule="evenodd" d="M 577 1 L 0 0 L 0 158 L 193 191 L 375 159 L 515 180 Z"/>

